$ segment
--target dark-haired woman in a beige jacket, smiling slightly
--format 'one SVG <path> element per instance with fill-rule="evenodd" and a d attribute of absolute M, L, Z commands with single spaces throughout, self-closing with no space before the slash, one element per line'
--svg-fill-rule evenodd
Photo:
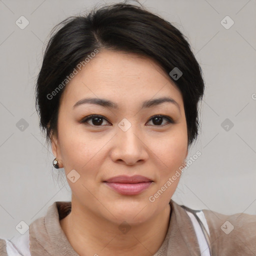
<path fill-rule="evenodd" d="M 54 202 L 18 242 L 1 239 L 0 255 L 254 255 L 254 215 L 171 200 L 204 91 L 182 33 L 126 3 L 61 25 L 36 109 L 71 202 Z"/>

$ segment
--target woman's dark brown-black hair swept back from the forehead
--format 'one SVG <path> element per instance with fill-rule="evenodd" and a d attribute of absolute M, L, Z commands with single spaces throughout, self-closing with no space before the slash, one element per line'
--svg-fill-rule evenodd
<path fill-rule="evenodd" d="M 53 33 L 54 29 L 57 31 Z M 54 26 L 51 33 L 35 86 L 39 126 L 46 130 L 47 142 L 52 134 L 57 135 L 59 102 L 65 86 L 54 97 L 49 99 L 47 95 L 95 49 L 136 53 L 160 64 L 182 94 L 188 146 L 196 140 L 197 103 L 204 91 L 202 72 L 185 36 L 170 22 L 142 5 L 124 1 L 94 7 L 86 15 L 70 16 Z M 182 72 L 178 79 L 169 75 L 175 67 Z"/>

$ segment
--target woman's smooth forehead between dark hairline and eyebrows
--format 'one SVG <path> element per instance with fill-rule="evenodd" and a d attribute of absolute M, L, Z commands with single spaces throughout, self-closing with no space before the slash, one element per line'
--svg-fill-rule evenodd
<path fill-rule="evenodd" d="M 63 94 L 63 101 L 73 103 L 84 96 L 119 99 L 122 103 L 171 96 L 183 103 L 174 82 L 151 58 L 112 50 L 103 50 L 91 58 L 69 81 Z"/>

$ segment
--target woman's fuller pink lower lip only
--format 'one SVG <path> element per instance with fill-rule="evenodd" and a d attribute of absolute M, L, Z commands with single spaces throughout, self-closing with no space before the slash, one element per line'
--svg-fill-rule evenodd
<path fill-rule="evenodd" d="M 105 183 L 121 194 L 139 194 L 140 192 L 148 188 L 152 182 L 150 181 L 139 183 Z"/>

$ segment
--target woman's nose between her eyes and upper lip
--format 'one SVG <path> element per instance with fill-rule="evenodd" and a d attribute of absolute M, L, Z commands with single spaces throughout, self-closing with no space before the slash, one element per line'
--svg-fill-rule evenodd
<path fill-rule="evenodd" d="M 112 161 L 127 165 L 141 164 L 146 161 L 149 149 L 143 140 L 143 136 L 138 129 L 135 129 L 135 125 L 131 125 L 126 131 L 118 128 L 111 150 Z"/>

